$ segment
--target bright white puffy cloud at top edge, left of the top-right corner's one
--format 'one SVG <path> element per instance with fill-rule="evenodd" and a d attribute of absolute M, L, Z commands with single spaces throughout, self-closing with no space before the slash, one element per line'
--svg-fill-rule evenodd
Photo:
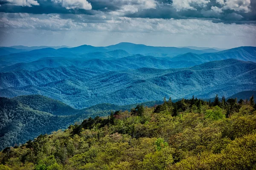
<path fill-rule="evenodd" d="M 209 2 L 210 0 L 172 0 L 172 6 L 177 11 L 187 10 L 187 9 L 196 10 L 196 8 L 194 8 L 195 6 L 204 7 Z"/>

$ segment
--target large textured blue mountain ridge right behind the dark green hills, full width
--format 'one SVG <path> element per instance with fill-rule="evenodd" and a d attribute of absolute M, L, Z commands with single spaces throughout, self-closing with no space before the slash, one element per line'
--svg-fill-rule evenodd
<path fill-rule="evenodd" d="M 64 76 L 61 73 L 63 79 L 55 81 L 53 77 L 51 81 L 42 78 L 45 82 L 26 74 L 17 79 L 5 76 L 1 86 L 9 85 L 9 88 L 1 89 L 0 95 L 42 94 L 75 108 L 84 108 L 99 103 L 127 105 L 161 100 L 163 96 L 171 96 L 172 99 L 192 95 L 211 98 L 215 94 L 228 97 L 256 89 L 256 63 L 236 59 L 207 62 L 192 68 L 110 71 L 88 78 L 83 78 L 83 74 L 73 78 L 72 73 Z"/>

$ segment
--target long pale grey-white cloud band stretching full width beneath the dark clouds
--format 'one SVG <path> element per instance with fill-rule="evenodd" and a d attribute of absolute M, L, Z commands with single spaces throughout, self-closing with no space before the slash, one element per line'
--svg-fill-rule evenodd
<path fill-rule="evenodd" d="M 14 17 L 13 15 L 17 15 Z M 212 23 L 210 20 L 183 19 L 145 19 L 116 17 L 112 20 L 87 20 L 89 15 L 76 15 L 84 19 L 84 22 L 76 22 L 72 19 L 62 19 L 58 14 L 8 14 L 0 13 L 0 29 L 16 30 L 49 30 L 61 31 L 93 31 L 122 33 L 152 33 L 152 34 L 177 34 L 177 35 L 255 35 L 255 25 L 236 25 L 224 23 Z M 102 16 L 98 16 L 99 18 Z M 103 16 L 105 18 L 105 16 Z M 108 17 L 108 16 L 106 16 Z M 239 20 L 239 16 L 229 16 L 232 20 Z M 96 18 L 95 18 L 96 19 Z"/>

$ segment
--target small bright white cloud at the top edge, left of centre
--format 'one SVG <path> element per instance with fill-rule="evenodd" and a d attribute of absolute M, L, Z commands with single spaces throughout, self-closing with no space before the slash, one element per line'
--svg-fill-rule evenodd
<path fill-rule="evenodd" d="M 61 6 L 66 9 L 92 9 L 91 4 L 87 0 L 52 0 L 52 2 L 61 3 Z"/>

